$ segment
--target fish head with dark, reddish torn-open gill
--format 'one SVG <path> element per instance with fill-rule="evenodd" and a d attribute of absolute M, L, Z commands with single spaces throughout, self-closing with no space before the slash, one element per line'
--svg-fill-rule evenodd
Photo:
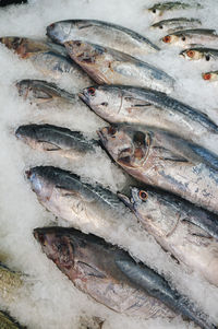
<path fill-rule="evenodd" d="M 148 132 L 110 126 L 99 130 L 98 134 L 104 146 L 122 167 L 136 168 L 146 161 L 150 145 Z"/>

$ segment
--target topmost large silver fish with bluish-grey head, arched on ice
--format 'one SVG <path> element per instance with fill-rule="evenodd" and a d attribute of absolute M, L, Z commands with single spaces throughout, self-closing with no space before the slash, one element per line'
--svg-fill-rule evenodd
<path fill-rule="evenodd" d="M 142 59 L 159 47 L 143 35 L 109 22 L 98 20 L 68 20 L 50 24 L 47 35 L 58 44 L 71 40 L 89 42 L 102 47 L 113 48 Z"/>

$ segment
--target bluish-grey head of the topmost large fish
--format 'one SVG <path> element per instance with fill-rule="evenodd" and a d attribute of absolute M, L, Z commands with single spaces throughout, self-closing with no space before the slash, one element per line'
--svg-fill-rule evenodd
<path fill-rule="evenodd" d="M 69 40 L 71 31 L 71 21 L 60 21 L 47 26 L 47 35 L 58 44 L 63 44 Z"/>

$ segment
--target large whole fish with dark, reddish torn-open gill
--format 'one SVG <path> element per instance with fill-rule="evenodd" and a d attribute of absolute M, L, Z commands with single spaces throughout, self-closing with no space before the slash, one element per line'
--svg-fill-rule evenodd
<path fill-rule="evenodd" d="M 218 213 L 218 157 L 206 149 L 146 127 L 107 127 L 99 137 L 136 179 Z"/>

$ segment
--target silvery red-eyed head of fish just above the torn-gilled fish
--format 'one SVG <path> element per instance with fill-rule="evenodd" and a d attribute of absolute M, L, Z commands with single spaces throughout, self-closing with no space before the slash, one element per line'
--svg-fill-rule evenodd
<path fill-rule="evenodd" d="M 78 96 L 97 115 L 109 121 L 122 106 L 122 92 L 116 86 L 89 86 L 84 89 Z"/>

